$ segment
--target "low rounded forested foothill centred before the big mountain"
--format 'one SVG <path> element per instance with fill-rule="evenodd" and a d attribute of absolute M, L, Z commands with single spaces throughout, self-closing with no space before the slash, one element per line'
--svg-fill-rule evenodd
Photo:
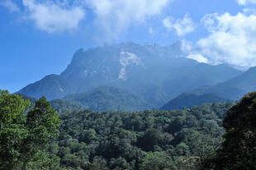
<path fill-rule="evenodd" d="M 134 94 L 107 86 L 81 94 L 71 94 L 63 100 L 93 111 L 140 111 L 152 108 L 149 103 Z"/>

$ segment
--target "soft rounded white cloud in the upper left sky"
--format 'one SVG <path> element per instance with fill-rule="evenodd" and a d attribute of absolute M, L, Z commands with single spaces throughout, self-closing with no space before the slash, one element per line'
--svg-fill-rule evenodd
<path fill-rule="evenodd" d="M 83 20 L 82 7 L 64 7 L 63 4 L 36 0 L 22 0 L 27 9 L 27 18 L 35 22 L 36 27 L 49 33 L 73 30 Z"/>

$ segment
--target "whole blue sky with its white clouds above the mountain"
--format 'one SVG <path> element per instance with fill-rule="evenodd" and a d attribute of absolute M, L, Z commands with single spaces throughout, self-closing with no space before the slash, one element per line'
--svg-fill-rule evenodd
<path fill-rule="evenodd" d="M 15 92 L 59 74 L 78 48 L 124 41 L 167 45 L 181 40 L 187 57 L 198 62 L 254 67 L 255 3 L 0 0 L 0 89 Z"/>

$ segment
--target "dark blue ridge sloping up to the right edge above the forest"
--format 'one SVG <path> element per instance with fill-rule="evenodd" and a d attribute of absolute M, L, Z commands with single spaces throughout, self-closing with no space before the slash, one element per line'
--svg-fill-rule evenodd
<path fill-rule="evenodd" d="M 192 90 L 179 95 L 166 103 L 166 108 L 183 108 L 192 105 L 200 105 L 201 103 L 213 103 L 230 100 L 238 100 L 251 91 L 256 90 L 256 67 L 249 68 L 239 76 L 235 76 L 230 80 L 212 86 L 204 86 L 197 90 Z M 211 94 L 211 95 L 209 95 Z M 175 106 L 176 104 L 176 106 Z"/>

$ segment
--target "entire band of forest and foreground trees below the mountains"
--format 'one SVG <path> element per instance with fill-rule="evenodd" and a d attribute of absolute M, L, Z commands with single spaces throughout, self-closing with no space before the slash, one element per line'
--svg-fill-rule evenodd
<path fill-rule="evenodd" d="M 45 98 L 31 106 L 0 91 L 0 169 L 256 168 L 255 93 L 239 103 L 172 111 L 99 113 L 58 106 L 65 112 L 58 115 Z"/>

